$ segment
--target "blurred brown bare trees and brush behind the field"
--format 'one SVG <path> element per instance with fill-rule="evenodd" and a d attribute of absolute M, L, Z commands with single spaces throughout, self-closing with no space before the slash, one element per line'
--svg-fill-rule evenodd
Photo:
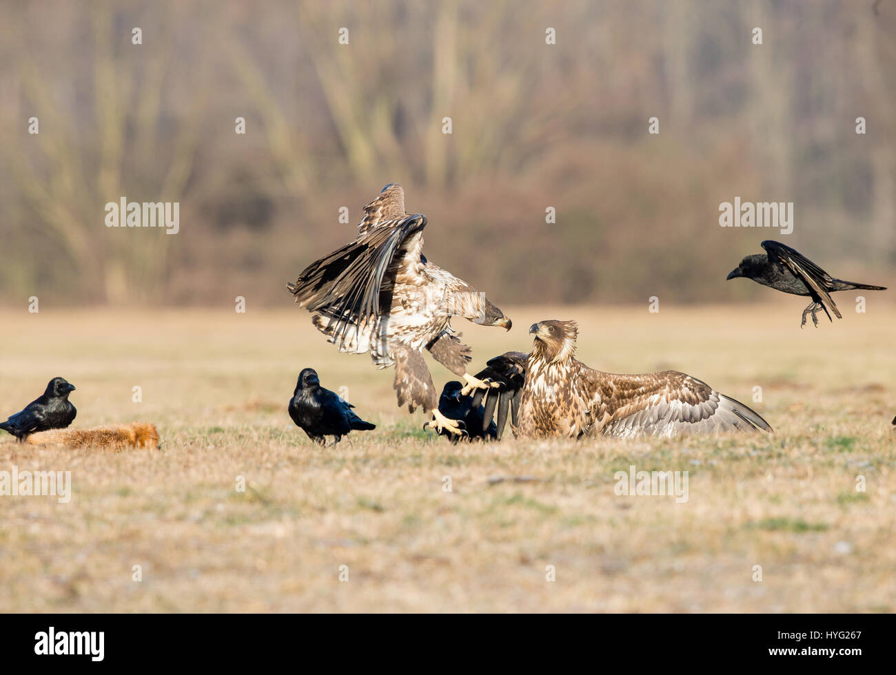
<path fill-rule="evenodd" d="M 0 302 L 285 306 L 392 182 L 496 303 L 758 297 L 724 278 L 765 238 L 886 284 L 894 32 L 891 0 L 6 2 Z M 106 227 L 121 196 L 180 233 Z M 719 227 L 735 196 L 793 235 Z"/>

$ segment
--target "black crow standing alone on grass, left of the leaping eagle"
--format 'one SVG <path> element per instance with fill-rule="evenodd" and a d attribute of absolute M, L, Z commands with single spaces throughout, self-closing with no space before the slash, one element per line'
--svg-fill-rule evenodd
<path fill-rule="evenodd" d="M 333 437 L 333 444 L 351 430 L 370 431 L 376 425 L 365 422 L 352 411 L 352 406 L 330 389 L 321 387 L 314 368 L 298 373 L 296 390 L 289 399 L 289 416 L 308 438 L 323 445 L 325 436 Z"/>

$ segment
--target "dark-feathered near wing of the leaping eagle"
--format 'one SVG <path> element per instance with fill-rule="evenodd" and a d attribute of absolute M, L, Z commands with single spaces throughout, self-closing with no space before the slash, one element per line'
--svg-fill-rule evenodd
<path fill-rule="evenodd" d="M 353 324 L 389 312 L 391 301 L 381 295 L 392 295 L 395 274 L 409 262 L 399 254 L 418 243 L 425 226 L 426 216 L 419 213 L 380 223 L 312 262 L 287 287 L 299 306 L 329 318 L 333 342 L 341 344 Z"/>

